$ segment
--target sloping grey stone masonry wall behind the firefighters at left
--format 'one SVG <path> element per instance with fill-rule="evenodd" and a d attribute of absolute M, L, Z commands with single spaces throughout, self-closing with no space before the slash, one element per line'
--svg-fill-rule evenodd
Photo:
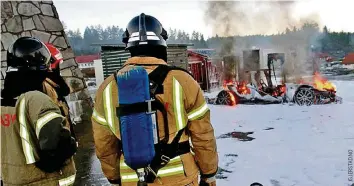
<path fill-rule="evenodd" d="M 92 106 L 83 75 L 52 1 L 1 1 L 1 85 L 6 76 L 6 51 L 17 38 L 23 36 L 36 37 L 61 50 L 64 58 L 60 65 L 61 74 L 73 92 L 68 99 L 84 100 Z"/>

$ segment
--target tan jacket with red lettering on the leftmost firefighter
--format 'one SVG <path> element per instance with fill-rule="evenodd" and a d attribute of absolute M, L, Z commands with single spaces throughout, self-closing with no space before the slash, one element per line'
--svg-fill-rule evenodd
<path fill-rule="evenodd" d="M 72 158 L 65 161 L 60 171 L 52 173 L 35 165 L 40 161 L 41 150 L 52 149 L 52 144 L 60 139 L 58 131 L 67 130 L 64 119 L 51 98 L 39 91 L 21 94 L 14 105 L 4 105 L 2 100 L 1 180 L 5 186 L 74 183 L 76 169 Z"/>

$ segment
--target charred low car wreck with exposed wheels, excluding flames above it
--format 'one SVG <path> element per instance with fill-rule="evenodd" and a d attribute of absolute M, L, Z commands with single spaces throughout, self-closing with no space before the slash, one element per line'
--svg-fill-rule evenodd
<path fill-rule="evenodd" d="M 336 96 L 335 90 L 318 90 L 311 85 L 284 84 L 286 91 L 279 87 L 267 88 L 267 92 L 248 84 L 249 92 L 240 93 L 237 85 L 227 85 L 216 98 L 207 98 L 209 104 L 237 105 L 237 104 L 297 104 L 300 106 L 342 103 L 342 98 Z"/>

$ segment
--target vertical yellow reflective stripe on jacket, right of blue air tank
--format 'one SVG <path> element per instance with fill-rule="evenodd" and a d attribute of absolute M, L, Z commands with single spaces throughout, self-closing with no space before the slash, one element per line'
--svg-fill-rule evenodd
<path fill-rule="evenodd" d="M 183 94 L 182 94 L 182 86 L 177 81 L 177 79 L 173 78 L 173 108 L 174 114 L 176 118 L 176 127 L 177 131 L 183 129 L 185 127 L 183 111 L 184 111 L 184 103 L 183 103 Z"/>

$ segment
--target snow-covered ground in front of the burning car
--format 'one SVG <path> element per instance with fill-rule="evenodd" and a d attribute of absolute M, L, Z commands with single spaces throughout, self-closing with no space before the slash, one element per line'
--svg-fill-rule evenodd
<path fill-rule="evenodd" d="M 219 152 L 218 186 L 347 186 L 354 150 L 354 81 L 333 81 L 343 104 L 209 105 Z M 245 141 L 230 132 L 253 132 Z"/>

